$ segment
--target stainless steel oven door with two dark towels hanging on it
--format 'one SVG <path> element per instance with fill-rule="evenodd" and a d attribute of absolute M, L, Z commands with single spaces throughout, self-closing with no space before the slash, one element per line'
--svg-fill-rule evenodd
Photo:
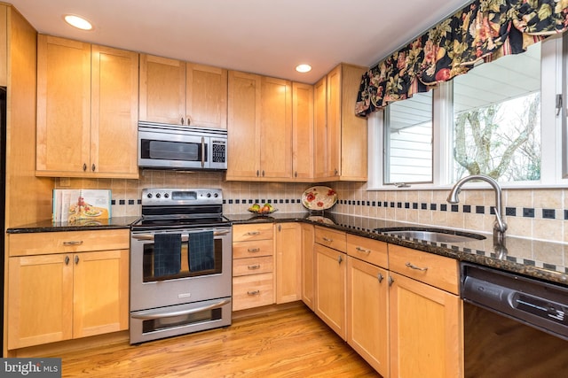
<path fill-rule="evenodd" d="M 207 243 L 210 233 L 212 249 Z M 130 312 L 231 297 L 231 243 L 231 228 L 133 230 Z"/>

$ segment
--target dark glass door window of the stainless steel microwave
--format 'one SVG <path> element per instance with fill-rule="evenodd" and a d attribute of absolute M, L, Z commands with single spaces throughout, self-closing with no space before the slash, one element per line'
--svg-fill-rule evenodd
<path fill-rule="evenodd" d="M 143 139 L 140 144 L 142 158 L 158 160 L 201 161 L 201 143 L 151 141 Z M 207 160 L 207 145 L 204 151 Z"/>

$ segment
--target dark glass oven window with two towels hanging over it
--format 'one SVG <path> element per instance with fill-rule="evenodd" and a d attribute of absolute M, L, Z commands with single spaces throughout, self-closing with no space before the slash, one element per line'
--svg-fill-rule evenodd
<path fill-rule="evenodd" d="M 144 244 L 143 282 L 223 273 L 223 239 L 197 233 L 181 242 L 180 236 L 155 234 L 154 243 Z"/>

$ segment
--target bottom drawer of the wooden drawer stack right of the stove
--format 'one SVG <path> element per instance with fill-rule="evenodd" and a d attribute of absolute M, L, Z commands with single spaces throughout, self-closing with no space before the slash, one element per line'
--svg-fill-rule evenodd
<path fill-rule="evenodd" d="M 233 278 L 233 311 L 274 303 L 272 273 L 242 275 Z"/>

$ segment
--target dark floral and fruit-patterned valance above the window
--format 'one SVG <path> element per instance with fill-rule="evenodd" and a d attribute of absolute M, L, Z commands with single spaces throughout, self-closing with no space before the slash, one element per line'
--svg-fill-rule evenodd
<path fill-rule="evenodd" d="M 568 0 L 476 0 L 371 67 L 355 112 L 367 116 L 567 28 Z"/>

